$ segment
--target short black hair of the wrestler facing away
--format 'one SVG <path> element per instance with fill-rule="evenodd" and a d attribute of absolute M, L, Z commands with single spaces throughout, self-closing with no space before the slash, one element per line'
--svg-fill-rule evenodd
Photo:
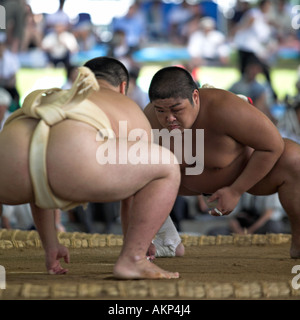
<path fill-rule="evenodd" d="M 91 69 L 97 79 L 103 79 L 114 87 L 118 87 L 125 81 L 127 92 L 129 74 L 124 64 L 119 60 L 111 57 L 97 57 L 87 61 L 84 66 Z"/>

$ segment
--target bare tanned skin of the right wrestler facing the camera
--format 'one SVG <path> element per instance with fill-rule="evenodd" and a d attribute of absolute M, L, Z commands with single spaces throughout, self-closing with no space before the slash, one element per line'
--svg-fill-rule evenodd
<path fill-rule="evenodd" d="M 195 90 L 193 102 L 159 99 L 144 110 L 154 129 L 192 129 L 193 133 L 204 129 L 204 170 L 199 175 L 186 175 L 184 158 L 179 159 L 179 194 L 211 193 L 210 201 L 218 200 L 217 209 L 228 215 L 244 192 L 278 192 L 292 225 L 290 253 L 299 257 L 300 146 L 282 139 L 267 116 L 228 91 Z M 193 148 L 196 143 L 193 139 Z M 174 146 L 170 149 L 174 151 Z M 218 214 L 213 211 L 213 215 Z"/>

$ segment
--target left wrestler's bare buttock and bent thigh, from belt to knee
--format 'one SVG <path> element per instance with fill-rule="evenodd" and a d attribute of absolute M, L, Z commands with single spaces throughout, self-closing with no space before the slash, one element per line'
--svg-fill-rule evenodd
<path fill-rule="evenodd" d="M 94 134 L 74 134 L 68 143 L 63 143 L 64 147 L 62 142 L 49 144 L 47 166 L 53 192 L 65 200 L 102 202 L 126 198 L 177 166 L 152 163 L 151 152 L 170 155 L 170 162 L 174 159 L 167 149 L 147 142 L 139 142 L 139 148 L 135 142 L 120 145 L 116 139 L 109 146 L 108 141 L 96 141 Z M 134 159 L 142 163 L 133 163 Z"/>

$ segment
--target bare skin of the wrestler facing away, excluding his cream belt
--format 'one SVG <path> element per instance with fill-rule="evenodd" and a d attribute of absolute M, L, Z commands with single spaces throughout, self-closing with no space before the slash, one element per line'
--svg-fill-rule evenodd
<path fill-rule="evenodd" d="M 119 121 L 127 121 L 128 132 L 133 128 L 143 129 L 140 139 L 150 150 L 147 137 L 151 136 L 150 124 L 141 109 L 124 95 L 124 83 L 118 87 L 104 80 L 98 83 L 100 90 L 91 93 L 88 99 L 110 119 L 117 147 L 124 139 L 119 139 Z M 0 134 L 0 204 L 31 204 L 45 250 L 46 269 L 50 274 L 63 274 L 68 269 L 60 260 L 69 263 L 70 255 L 58 242 L 54 208 L 41 209 L 34 203 L 28 153 L 37 123 L 35 119 L 16 120 Z M 75 120 L 63 120 L 51 127 L 46 162 L 53 193 L 74 202 L 130 202 L 126 236 L 114 266 L 114 276 L 122 279 L 178 278 L 177 272 L 165 271 L 146 259 L 153 237 L 174 204 L 180 181 L 178 164 L 174 159 L 170 165 L 152 165 L 150 161 L 149 165 L 100 165 L 96 159 L 97 150 L 105 141 L 97 140 L 97 134 L 95 128 Z M 128 141 L 127 148 L 133 144 Z M 172 157 L 167 149 L 159 146 L 154 152 L 162 158 Z"/>

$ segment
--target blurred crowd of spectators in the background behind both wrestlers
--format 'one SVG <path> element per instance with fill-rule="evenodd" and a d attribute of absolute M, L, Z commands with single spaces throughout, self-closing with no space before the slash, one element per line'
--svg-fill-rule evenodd
<path fill-rule="evenodd" d="M 89 52 L 115 57 L 130 72 L 128 95 L 143 109 L 148 101 L 147 93 L 137 82 L 143 64 L 136 61 L 135 54 L 147 46 L 159 50 L 160 46 L 168 45 L 186 50 L 189 59 L 182 64 L 195 77 L 195 70 L 201 66 L 236 66 L 240 79 L 224 89 L 250 97 L 255 107 L 272 119 L 284 137 L 300 142 L 300 69 L 295 70 L 298 81 L 291 84 L 296 88 L 295 96 L 287 96 L 281 101 L 285 107 L 284 115 L 278 118 L 272 109 L 278 104 L 278 96 L 270 70 L 280 58 L 300 58 L 300 33 L 291 23 L 290 1 L 262 0 L 252 5 L 238 0 L 227 16 L 214 1 L 196 4 L 136 1 L 126 15 L 113 18 L 108 26 L 93 25 L 87 13 L 79 13 L 76 21 L 70 19 L 64 11 L 64 4 L 65 1 L 60 1 L 53 14 L 34 14 L 25 0 L 0 0 L 0 5 L 6 9 L 6 30 L 0 32 L 0 130 L 9 114 L 20 107 L 16 78 L 22 67 L 64 68 L 67 75 L 64 89 L 67 89 L 76 77 L 76 67 L 82 64 L 80 57 L 84 59 Z M 258 79 L 261 75 L 264 82 Z M 201 83 L 201 79 L 195 80 Z M 271 201 L 265 197 L 266 202 L 259 206 L 260 209 L 256 204 L 257 215 L 253 223 L 259 227 L 262 226 L 257 222 L 260 219 L 264 221 L 263 225 L 266 221 L 282 220 L 284 212 L 274 197 Z M 247 201 L 251 203 L 251 199 Z M 179 197 L 174 206 L 171 216 L 178 230 L 181 220 L 191 218 L 189 205 L 187 199 Z M 114 219 L 118 219 L 118 206 L 105 208 L 105 205 L 95 204 L 89 207 L 87 215 L 82 210 L 75 210 L 70 217 L 84 223 L 85 231 L 93 232 L 90 222 L 101 207 L 102 219 L 107 225 L 105 232 L 109 232 Z M 245 213 L 246 207 L 243 205 L 237 211 Z M 252 212 L 253 205 L 250 209 L 248 211 Z M 108 211 L 114 213 L 109 215 Z M 197 212 L 206 212 L 201 197 L 197 198 Z M 6 216 L 12 216 L 12 213 Z M 9 224 L 5 226 L 9 227 Z M 5 226 L 2 221 L 2 227 Z M 26 226 L 29 227 L 32 228 L 32 221 Z M 246 229 L 251 233 L 255 228 L 240 225 L 235 220 L 227 232 L 244 232 Z M 265 228 L 263 232 L 278 230 Z"/>

